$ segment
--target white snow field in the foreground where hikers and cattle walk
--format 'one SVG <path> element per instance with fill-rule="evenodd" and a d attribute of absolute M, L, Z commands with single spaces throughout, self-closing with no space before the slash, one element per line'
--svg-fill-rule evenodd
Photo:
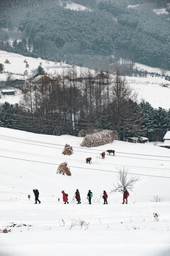
<path fill-rule="evenodd" d="M 0 233 L 1 256 L 170 255 L 169 149 L 119 141 L 82 148 L 81 137 L 2 127 L 0 139 L 0 230 L 11 229 Z M 66 143 L 73 146 L 72 156 L 62 154 Z M 115 156 L 101 159 L 106 149 L 115 149 Z M 89 156 L 92 163 L 86 164 Z M 72 176 L 56 174 L 63 161 Z M 140 178 L 127 205 L 121 193 L 110 193 L 123 166 Z M 40 204 L 35 205 L 33 188 L 40 192 Z M 77 188 L 81 204 L 73 200 Z M 94 193 L 91 205 L 89 189 Z M 62 190 L 69 194 L 67 205 Z M 103 190 L 108 205 L 103 205 Z M 81 220 L 89 224 L 81 227 Z"/>

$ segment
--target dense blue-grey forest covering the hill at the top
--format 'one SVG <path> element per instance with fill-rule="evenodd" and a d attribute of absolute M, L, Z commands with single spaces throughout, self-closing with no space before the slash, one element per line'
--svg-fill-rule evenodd
<path fill-rule="evenodd" d="M 74 1 L 91 11 L 65 9 L 67 3 L 2 0 L 0 49 L 90 68 L 123 58 L 170 69 L 167 1 Z M 139 6 L 130 8 L 133 4 Z M 166 14 L 154 13 L 162 7 Z"/>

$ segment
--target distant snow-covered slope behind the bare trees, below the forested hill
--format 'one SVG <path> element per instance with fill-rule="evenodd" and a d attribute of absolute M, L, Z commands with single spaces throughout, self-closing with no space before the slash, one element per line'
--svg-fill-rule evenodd
<path fill-rule="evenodd" d="M 5 63 L 5 61 L 9 60 L 10 64 Z M 29 68 L 26 68 L 27 61 Z M 52 62 L 48 60 L 42 60 L 40 58 L 31 58 L 23 55 L 19 55 L 16 53 L 8 53 L 3 50 L 0 50 L 0 63 L 4 64 L 5 73 L 0 73 L 0 81 L 5 81 L 8 78 L 8 73 L 11 73 L 11 79 L 27 79 L 30 75 L 33 74 L 33 70 L 38 68 L 38 65 L 42 65 L 45 73 L 50 75 L 50 77 L 60 75 L 64 71 L 67 71 L 71 65 L 67 63 L 58 63 Z M 135 63 L 135 67 L 137 70 L 147 70 L 149 73 L 158 73 L 162 75 L 162 70 L 158 68 L 150 68 L 146 65 L 140 65 Z M 28 75 L 24 75 L 25 71 L 28 71 Z M 87 68 L 80 68 L 76 66 L 77 74 L 84 73 L 87 71 Z M 170 71 L 164 71 L 166 75 L 170 74 Z M 94 70 L 91 70 L 91 73 L 94 73 Z M 149 102 L 153 107 L 163 107 L 165 109 L 169 109 L 169 98 L 170 98 L 170 81 L 166 81 L 163 77 L 157 78 L 156 76 L 152 77 L 148 75 L 147 78 L 138 78 L 138 77 L 127 77 L 128 84 L 134 92 L 137 92 L 138 102 L 141 100 L 145 100 Z M 20 95 L 19 93 L 17 95 Z M 20 96 L 19 96 L 20 97 Z M 10 103 L 18 103 L 19 97 L 6 97 Z M 4 98 L 0 99 L 0 102 L 4 102 Z"/>

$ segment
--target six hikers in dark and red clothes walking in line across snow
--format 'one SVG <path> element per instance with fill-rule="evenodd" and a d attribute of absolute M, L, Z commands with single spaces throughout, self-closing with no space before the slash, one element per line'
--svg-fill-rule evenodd
<path fill-rule="evenodd" d="M 33 193 L 35 195 L 35 203 L 41 203 L 39 198 L 39 191 L 37 188 L 33 189 Z M 123 204 L 124 203 L 128 203 L 128 196 L 129 193 L 127 191 L 126 188 L 123 189 Z M 81 203 L 81 198 L 80 198 L 80 193 L 79 193 L 79 189 L 77 189 L 77 191 L 74 194 L 74 197 L 77 200 L 77 204 Z M 87 193 L 87 199 L 89 200 L 89 204 L 91 204 L 91 198 L 93 197 L 93 193 L 91 192 L 91 190 L 89 190 L 89 192 Z M 69 203 L 69 199 L 68 199 L 68 194 L 65 193 L 64 191 L 62 191 L 62 198 L 63 198 L 63 202 L 64 204 Z M 103 204 L 108 204 L 108 194 L 106 193 L 106 191 L 103 191 L 103 196 L 102 196 L 104 203 Z"/>

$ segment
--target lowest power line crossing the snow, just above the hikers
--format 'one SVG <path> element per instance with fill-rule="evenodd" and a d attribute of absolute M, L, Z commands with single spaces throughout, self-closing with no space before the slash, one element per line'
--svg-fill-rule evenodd
<path fill-rule="evenodd" d="M 29 160 L 29 159 L 20 159 L 20 158 L 16 158 L 16 157 L 10 157 L 10 156 L 1 156 L 2 158 L 6 158 L 6 159 L 14 159 L 14 160 L 19 160 L 19 161 L 28 161 L 28 162 L 33 162 L 33 163 L 38 163 L 38 164 L 50 164 L 50 165 L 60 165 L 57 163 L 49 163 L 49 162 L 45 162 L 45 161 L 35 161 L 35 160 Z M 119 171 L 109 171 L 109 170 L 102 170 L 102 169 L 91 169 L 91 168 L 86 168 L 86 167 L 80 167 L 80 166 L 69 166 L 72 168 L 77 168 L 77 169 L 86 169 L 86 170 L 92 170 L 92 171 L 104 171 L 104 172 L 110 172 L 110 173 L 116 173 L 119 174 Z M 139 166 L 137 166 L 139 168 Z M 149 174 L 135 174 L 135 173 L 129 173 L 128 174 L 132 174 L 132 175 L 137 175 L 137 176 L 148 176 L 148 177 L 155 177 L 155 178 L 170 178 L 170 176 L 157 176 L 157 175 L 149 175 Z"/>

